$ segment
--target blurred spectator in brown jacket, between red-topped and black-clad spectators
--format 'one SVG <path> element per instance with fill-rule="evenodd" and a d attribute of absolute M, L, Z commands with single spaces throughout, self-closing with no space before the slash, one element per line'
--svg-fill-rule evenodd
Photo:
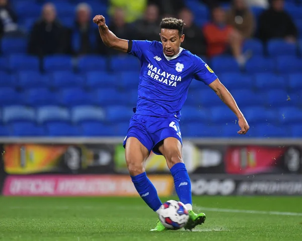
<path fill-rule="evenodd" d="M 251 38 L 254 34 L 254 16 L 246 5 L 245 0 L 233 0 L 226 22 L 237 29 L 243 38 Z"/>

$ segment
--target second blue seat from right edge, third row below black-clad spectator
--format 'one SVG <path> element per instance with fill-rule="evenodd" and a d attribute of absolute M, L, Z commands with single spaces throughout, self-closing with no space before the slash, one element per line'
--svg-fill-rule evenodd
<path fill-rule="evenodd" d="M 255 74 L 255 87 L 259 90 L 285 89 L 286 81 L 283 76 L 272 73 Z"/>

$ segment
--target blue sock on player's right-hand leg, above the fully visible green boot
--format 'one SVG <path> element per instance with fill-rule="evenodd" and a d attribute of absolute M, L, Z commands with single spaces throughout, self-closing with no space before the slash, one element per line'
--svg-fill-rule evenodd
<path fill-rule="evenodd" d="M 191 181 L 185 164 L 175 164 L 170 169 L 170 172 L 174 178 L 175 190 L 178 195 L 179 201 L 184 204 L 192 205 Z"/>

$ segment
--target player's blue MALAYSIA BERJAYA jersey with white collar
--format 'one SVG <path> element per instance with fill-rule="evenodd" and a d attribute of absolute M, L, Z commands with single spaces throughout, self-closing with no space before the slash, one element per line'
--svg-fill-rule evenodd
<path fill-rule="evenodd" d="M 217 76 L 198 56 L 183 48 L 172 58 L 158 41 L 132 41 L 129 54 L 141 63 L 136 114 L 180 118 L 192 79 L 211 84 Z"/>

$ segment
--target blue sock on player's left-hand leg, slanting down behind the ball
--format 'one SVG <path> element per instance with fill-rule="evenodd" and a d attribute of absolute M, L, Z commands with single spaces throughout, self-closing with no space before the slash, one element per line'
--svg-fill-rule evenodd
<path fill-rule="evenodd" d="M 131 176 L 131 179 L 139 196 L 153 209 L 153 211 L 156 212 L 162 206 L 162 202 L 157 194 L 155 186 L 147 178 L 146 173 L 144 172 L 134 177 Z"/>

